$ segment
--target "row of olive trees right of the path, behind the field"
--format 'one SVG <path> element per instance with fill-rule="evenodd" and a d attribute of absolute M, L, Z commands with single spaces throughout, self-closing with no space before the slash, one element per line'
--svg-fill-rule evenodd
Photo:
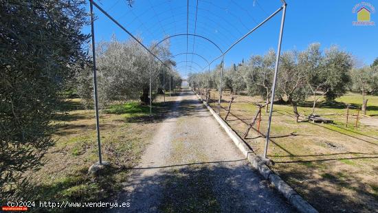
<path fill-rule="evenodd" d="M 276 53 L 270 49 L 264 55 L 254 55 L 238 65 L 223 70 L 222 89 L 231 93 L 247 92 L 260 96 L 266 102 L 271 98 Z M 378 93 L 378 60 L 370 66 L 355 68 L 355 60 L 348 52 L 333 45 L 322 51 L 320 43 L 311 43 L 303 51 L 290 50 L 280 56 L 276 100 L 293 106 L 298 121 L 297 105 L 307 98 L 313 98 L 313 110 L 321 97 L 327 102 L 344 95 L 347 91 Z M 201 74 L 190 74 L 188 82 L 196 87 L 219 89 L 221 65 Z M 366 100 L 362 109 L 366 110 Z M 366 113 L 364 111 L 364 113 Z"/>

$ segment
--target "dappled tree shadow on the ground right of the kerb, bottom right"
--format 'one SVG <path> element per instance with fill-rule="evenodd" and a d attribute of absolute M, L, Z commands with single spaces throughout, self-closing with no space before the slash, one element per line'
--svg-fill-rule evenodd
<path fill-rule="evenodd" d="M 374 212 L 378 209 L 377 194 L 370 192 L 357 176 L 340 171 L 322 173 L 320 179 L 314 179 L 318 166 L 312 164 L 304 164 L 306 168 L 300 171 L 280 170 L 280 176 L 319 212 Z M 358 199 L 352 200 L 340 192 L 345 188 L 353 190 Z"/>

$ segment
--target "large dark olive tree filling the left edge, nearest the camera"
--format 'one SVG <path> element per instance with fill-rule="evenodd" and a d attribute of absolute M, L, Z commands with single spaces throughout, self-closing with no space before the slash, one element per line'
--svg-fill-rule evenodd
<path fill-rule="evenodd" d="M 23 173 L 38 170 L 54 144 L 51 120 L 64 91 L 88 63 L 84 0 L 0 4 L 0 194 L 16 200 Z M 21 186 L 20 186 L 21 185 Z"/>

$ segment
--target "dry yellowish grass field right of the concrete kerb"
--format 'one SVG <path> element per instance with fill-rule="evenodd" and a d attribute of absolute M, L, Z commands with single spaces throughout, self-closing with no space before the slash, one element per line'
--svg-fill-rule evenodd
<path fill-rule="evenodd" d="M 219 98 L 212 91 L 211 97 Z M 368 115 L 378 115 L 378 97 L 368 96 Z M 361 99 L 361 100 L 360 100 Z M 221 117 L 225 117 L 230 94 L 221 103 Z M 258 97 L 238 96 L 231 107 L 227 123 L 243 135 L 261 102 Z M 346 104 L 361 106 L 359 94 L 348 93 L 332 104 L 322 103 L 315 113 L 330 118 L 335 124 L 313 124 L 305 116 L 311 104 L 298 107 L 301 121 L 295 122 L 292 108 L 275 104 L 271 124 L 268 156 L 276 164 L 271 168 L 321 212 L 373 212 L 378 209 L 378 130 L 376 126 L 359 123 L 355 118 L 345 126 Z M 216 102 L 210 105 L 216 110 Z M 350 113 L 357 113 L 351 109 Z M 246 142 L 257 154 L 263 154 L 268 114 L 263 110 L 260 134 L 250 131 Z M 254 126 L 255 128 L 256 125 Z"/>

